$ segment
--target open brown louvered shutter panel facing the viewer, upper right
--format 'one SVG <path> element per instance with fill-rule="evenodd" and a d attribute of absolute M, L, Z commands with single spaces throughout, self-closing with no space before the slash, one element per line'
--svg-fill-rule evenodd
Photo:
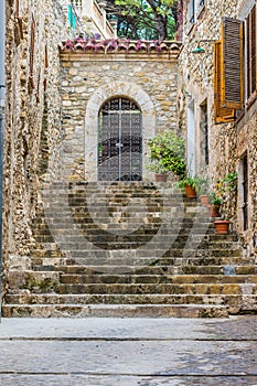
<path fill-rule="evenodd" d="M 243 22 L 222 20 L 222 106 L 243 108 Z"/>

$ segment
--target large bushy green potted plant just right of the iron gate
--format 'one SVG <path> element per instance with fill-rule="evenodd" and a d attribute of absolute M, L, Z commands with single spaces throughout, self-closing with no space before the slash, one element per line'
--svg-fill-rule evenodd
<path fill-rule="evenodd" d="M 156 173 L 157 181 L 167 180 L 169 173 L 185 174 L 185 141 L 173 131 L 165 130 L 148 141 L 150 161 L 147 169 Z M 164 175 L 165 176 L 164 176 Z"/>

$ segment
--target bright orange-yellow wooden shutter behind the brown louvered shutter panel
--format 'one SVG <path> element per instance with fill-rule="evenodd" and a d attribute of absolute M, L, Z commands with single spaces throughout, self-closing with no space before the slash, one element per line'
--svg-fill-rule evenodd
<path fill-rule="evenodd" d="M 214 120 L 216 124 L 229 122 L 235 118 L 235 110 L 222 106 L 222 42 L 214 44 Z"/>

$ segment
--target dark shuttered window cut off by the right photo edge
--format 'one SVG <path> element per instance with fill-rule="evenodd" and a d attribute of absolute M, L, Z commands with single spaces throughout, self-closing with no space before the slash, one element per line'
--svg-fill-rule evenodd
<path fill-rule="evenodd" d="M 256 6 L 246 19 L 246 98 L 249 105 L 256 97 Z"/>

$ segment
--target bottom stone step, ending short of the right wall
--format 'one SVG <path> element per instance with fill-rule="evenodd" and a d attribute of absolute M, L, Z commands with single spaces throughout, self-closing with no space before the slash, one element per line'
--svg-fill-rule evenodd
<path fill-rule="evenodd" d="M 228 318 L 225 305 L 210 304 L 4 304 L 3 318 Z"/>

